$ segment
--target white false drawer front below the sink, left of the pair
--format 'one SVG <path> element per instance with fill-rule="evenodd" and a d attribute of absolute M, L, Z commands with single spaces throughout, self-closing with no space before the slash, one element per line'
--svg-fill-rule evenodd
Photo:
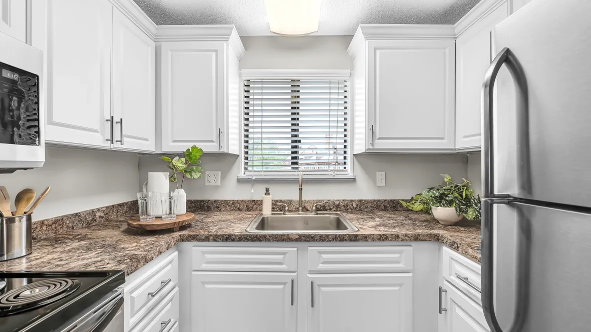
<path fill-rule="evenodd" d="M 194 246 L 193 271 L 296 272 L 297 248 Z"/>

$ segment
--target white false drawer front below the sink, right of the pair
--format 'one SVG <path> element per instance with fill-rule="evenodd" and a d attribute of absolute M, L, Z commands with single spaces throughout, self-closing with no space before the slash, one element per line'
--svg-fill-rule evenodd
<path fill-rule="evenodd" d="M 316 246 L 308 249 L 309 272 L 408 272 L 412 246 Z"/>

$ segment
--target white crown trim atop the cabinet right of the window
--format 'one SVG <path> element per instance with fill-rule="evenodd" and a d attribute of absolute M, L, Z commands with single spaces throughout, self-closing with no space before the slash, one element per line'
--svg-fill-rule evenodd
<path fill-rule="evenodd" d="M 430 40 L 455 39 L 452 24 L 360 24 L 347 53 L 355 58 L 368 40 Z"/>

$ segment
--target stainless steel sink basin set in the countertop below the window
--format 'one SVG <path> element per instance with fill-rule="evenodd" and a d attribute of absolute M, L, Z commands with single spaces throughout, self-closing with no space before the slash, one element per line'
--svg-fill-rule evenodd
<path fill-rule="evenodd" d="M 340 212 L 287 213 L 273 212 L 271 215 L 259 213 L 246 227 L 246 232 L 357 232 L 358 228 Z"/>

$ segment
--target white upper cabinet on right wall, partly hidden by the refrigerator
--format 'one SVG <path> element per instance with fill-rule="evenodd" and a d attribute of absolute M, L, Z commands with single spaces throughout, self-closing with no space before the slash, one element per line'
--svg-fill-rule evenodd
<path fill-rule="evenodd" d="M 509 15 L 505 2 L 456 41 L 456 149 L 480 146 L 480 91 L 491 54 L 491 30 Z"/>

